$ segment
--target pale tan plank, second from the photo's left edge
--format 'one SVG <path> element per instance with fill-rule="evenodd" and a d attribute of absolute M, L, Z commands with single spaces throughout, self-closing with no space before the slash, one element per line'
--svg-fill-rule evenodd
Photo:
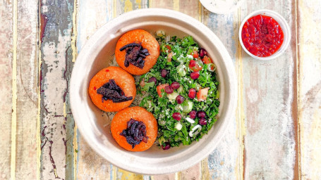
<path fill-rule="evenodd" d="M 16 179 L 37 179 L 38 1 L 18 1 Z"/>

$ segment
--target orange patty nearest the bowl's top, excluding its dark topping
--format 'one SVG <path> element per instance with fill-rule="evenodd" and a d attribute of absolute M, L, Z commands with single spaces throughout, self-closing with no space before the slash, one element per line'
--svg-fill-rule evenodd
<path fill-rule="evenodd" d="M 145 65 L 143 69 L 132 65 L 131 63 L 126 68 L 124 65 L 126 58 L 126 51 L 120 51 L 123 46 L 131 43 L 140 43 L 144 49 L 148 50 L 150 53 L 149 56 L 146 56 Z M 152 36 L 149 32 L 145 30 L 131 30 L 126 32 L 121 36 L 121 38 L 117 41 L 116 50 L 115 50 L 116 61 L 121 68 L 131 73 L 132 75 L 143 75 L 152 68 L 159 56 L 159 44 L 155 37 Z"/>

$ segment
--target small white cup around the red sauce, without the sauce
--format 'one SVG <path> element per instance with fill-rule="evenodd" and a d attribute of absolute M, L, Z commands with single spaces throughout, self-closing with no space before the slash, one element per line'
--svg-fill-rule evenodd
<path fill-rule="evenodd" d="M 243 25 L 246 23 L 246 21 L 249 18 L 251 18 L 255 15 L 267 15 L 269 17 L 274 18 L 274 20 L 276 20 L 277 23 L 279 23 L 279 25 L 281 26 L 281 29 L 283 31 L 283 34 L 284 34 L 283 43 L 282 43 L 281 47 L 279 48 L 279 50 L 277 50 L 277 52 L 273 53 L 271 56 L 267 56 L 267 57 L 255 56 L 255 55 L 253 55 L 253 53 L 250 53 L 243 44 L 243 40 L 242 40 Z M 244 20 L 240 26 L 240 30 L 238 31 L 238 38 L 239 38 L 239 41 L 240 41 L 240 44 L 241 44 L 243 50 L 246 51 L 246 53 L 248 53 L 248 55 L 250 55 L 253 58 L 258 59 L 258 60 L 272 60 L 272 59 L 280 56 L 281 53 L 283 53 L 288 48 L 288 46 L 290 44 L 290 40 L 291 40 L 291 30 L 290 30 L 288 23 L 286 23 L 286 20 L 284 20 L 284 18 L 281 15 L 279 15 L 279 13 L 277 13 L 275 11 L 268 10 L 268 9 L 261 9 L 258 11 L 254 11 L 253 13 L 250 13 L 248 16 L 246 16 L 246 18 L 244 18 Z"/>

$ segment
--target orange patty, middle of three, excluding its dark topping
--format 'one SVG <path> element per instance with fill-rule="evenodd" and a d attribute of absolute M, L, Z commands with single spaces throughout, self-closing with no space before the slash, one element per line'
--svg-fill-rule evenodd
<path fill-rule="evenodd" d="M 97 94 L 97 89 L 109 82 L 109 79 L 114 79 L 116 84 L 123 90 L 125 96 L 133 96 L 133 99 L 121 103 L 113 103 L 111 99 L 103 102 L 102 94 Z M 99 109 L 107 112 L 119 111 L 123 108 L 127 108 L 133 102 L 136 96 L 135 79 L 132 75 L 119 67 L 104 68 L 92 77 L 88 92 L 92 99 L 92 103 L 94 103 Z"/>

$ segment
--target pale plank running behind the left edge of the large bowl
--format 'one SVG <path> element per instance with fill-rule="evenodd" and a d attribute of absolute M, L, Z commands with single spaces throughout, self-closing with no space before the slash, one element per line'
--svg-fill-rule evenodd
<path fill-rule="evenodd" d="M 113 8 L 113 1 L 79 1 L 77 18 L 78 52 L 99 27 L 111 20 Z M 77 179 L 111 179 L 112 165 L 92 150 L 79 133 L 76 143 L 78 146 Z"/>

